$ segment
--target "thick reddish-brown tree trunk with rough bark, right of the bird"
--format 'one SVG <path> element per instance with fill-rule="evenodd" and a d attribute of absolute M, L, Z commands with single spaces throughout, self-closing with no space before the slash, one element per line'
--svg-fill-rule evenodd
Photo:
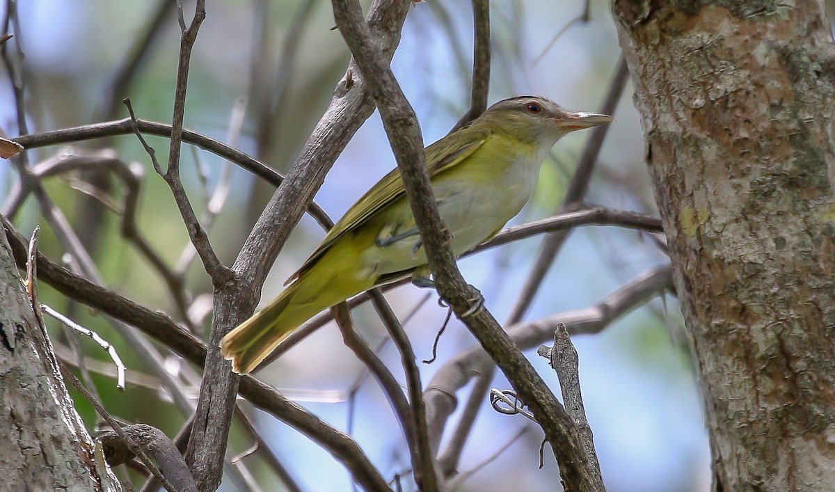
<path fill-rule="evenodd" d="M 835 490 L 835 58 L 821 2 L 615 0 L 716 490 Z"/>

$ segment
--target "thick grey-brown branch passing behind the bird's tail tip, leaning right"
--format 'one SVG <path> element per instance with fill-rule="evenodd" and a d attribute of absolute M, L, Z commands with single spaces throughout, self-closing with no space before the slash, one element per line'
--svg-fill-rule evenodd
<path fill-rule="evenodd" d="M 408 7 L 402 0 L 376 0 L 368 14 L 367 25 L 372 27 L 387 60 L 391 60 L 400 39 Z M 219 467 L 212 467 L 210 463 L 220 463 L 223 456 L 218 453 L 220 449 L 210 444 L 225 443 L 228 439 L 239 381 L 231 373 L 230 363 L 220 353 L 220 339 L 255 310 L 266 274 L 301 214 L 348 140 L 372 114 L 374 105 L 365 86 L 366 82 L 357 74 L 354 64 L 349 63 L 329 108 L 246 238 L 232 266 L 234 278 L 215 286 L 209 352 L 192 433 L 195 452 L 214 454 L 201 459 L 205 463 L 205 473 L 210 473 L 210 469 L 219 473 L 216 471 Z M 219 475 L 213 480 L 219 482 Z"/>

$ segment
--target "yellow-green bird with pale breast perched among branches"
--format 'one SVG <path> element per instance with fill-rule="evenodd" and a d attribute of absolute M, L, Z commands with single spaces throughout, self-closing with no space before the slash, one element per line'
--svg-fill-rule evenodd
<path fill-rule="evenodd" d="M 564 134 L 610 123 L 548 99 L 504 99 L 426 148 L 438 209 L 460 256 L 495 236 L 534 192 L 539 167 Z M 360 198 L 328 232 L 281 295 L 220 342 L 235 372 L 251 372 L 317 312 L 372 287 L 428 281 L 426 255 L 398 170 Z"/>

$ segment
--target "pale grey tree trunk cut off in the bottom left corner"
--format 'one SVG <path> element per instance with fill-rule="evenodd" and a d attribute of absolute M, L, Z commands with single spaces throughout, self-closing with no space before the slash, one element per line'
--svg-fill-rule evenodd
<path fill-rule="evenodd" d="M 96 472 L 93 441 L 60 374 L 0 234 L 0 489 L 120 489 Z"/>

